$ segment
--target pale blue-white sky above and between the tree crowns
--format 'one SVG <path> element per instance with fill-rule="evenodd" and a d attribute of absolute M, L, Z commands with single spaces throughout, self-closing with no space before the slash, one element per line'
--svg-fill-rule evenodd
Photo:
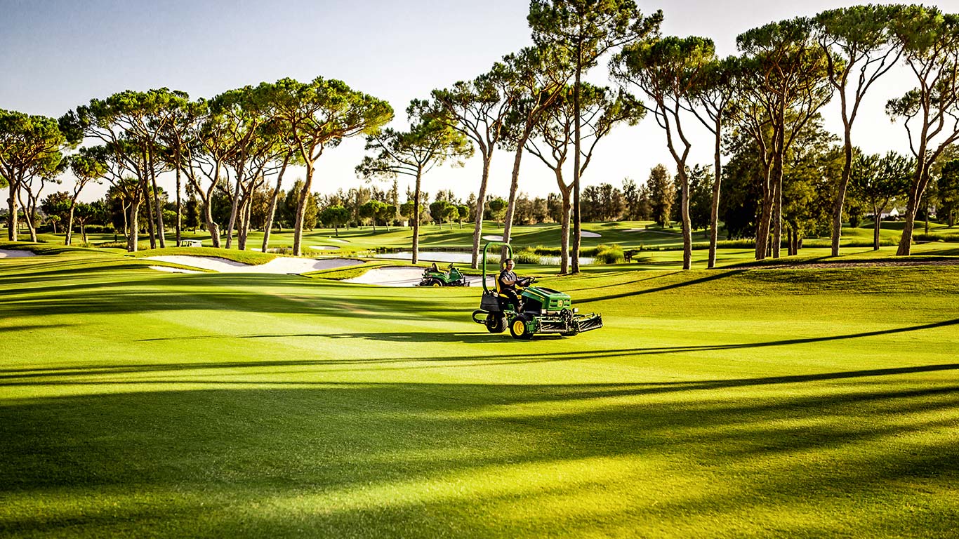
<path fill-rule="evenodd" d="M 663 35 L 710 37 L 721 56 L 736 54 L 736 36 L 750 28 L 863 3 L 638 0 L 644 14 L 664 12 Z M 925 4 L 959 12 L 959 0 Z M 0 108 L 57 118 L 126 89 L 168 87 L 211 98 L 246 84 L 321 76 L 388 101 L 396 110 L 393 126 L 402 129 L 411 99 L 471 80 L 504 55 L 531 45 L 527 12 L 526 0 L 0 0 Z M 615 85 L 605 63 L 586 80 Z M 904 69 L 891 72 L 871 90 L 854 126 L 854 144 L 866 152 L 908 152 L 905 129 L 889 120 L 883 106 L 914 86 L 909 77 Z M 823 114 L 827 128 L 841 133 L 838 107 L 829 105 Z M 712 163 L 712 135 L 694 122 L 687 123 L 690 164 Z M 325 152 L 316 163 L 315 190 L 388 188 L 391 180 L 370 184 L 356 176 L 362 159 L 362 139 Z M 624 177 L 643 181 L 659 163 L 674 168 L 664 131 L 647 116 L 600 141 L 583 185 L 620 186 Z M 496 152 L 488 192 L 505 198 L 511 170 L 512 154 Z M 296 174 L 284 183 L 292 184 Z M 434 169 L 424 176 L 423 189 L 452 189 L 466 199 L 478 190 L 479 176 L 474 157 L 462 168 Z M 409 180 L 399 179 L 402 191 Z M 170 178 L 161 184 L 172 189 Z M 556 192 L 550 170 L 528 153 L 520 190 L 530 197 Z M 95 186 L 82 199 L 104 192 Z"/>

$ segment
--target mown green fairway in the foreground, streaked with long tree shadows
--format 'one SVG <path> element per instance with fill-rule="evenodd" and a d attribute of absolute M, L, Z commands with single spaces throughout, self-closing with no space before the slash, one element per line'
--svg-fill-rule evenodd
<path fill-rule="evenodd" d="M 0 535 L 955 537 L 959 268 L 477 289 L 0 260 Z"/>

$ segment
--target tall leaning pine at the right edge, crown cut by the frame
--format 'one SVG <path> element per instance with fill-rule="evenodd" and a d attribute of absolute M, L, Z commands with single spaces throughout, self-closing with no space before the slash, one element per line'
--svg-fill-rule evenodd
<path fill-rule="evenodd" d="M 902 118 L 916 170 L 909 186 L 897 255 L 912 252 L 912 231 L 929 184 L 929 169 L 949 145 L 959 141 L 959 15 L 909 6 L 893 23 L 902 58 L 919 84 L 886 104 L 886 113 Z M 926 219 L 928 221 L 928 219 Z"/>

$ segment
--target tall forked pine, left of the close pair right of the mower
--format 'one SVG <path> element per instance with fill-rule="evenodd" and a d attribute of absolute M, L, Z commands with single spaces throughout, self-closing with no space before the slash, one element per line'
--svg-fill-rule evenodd
<path fill-rule="evenodd" d="M 683 105 L 693 99 L 695 83 L 713 62 L 715 47 L 703 37 L 665 37 L 631 43 L 610 62 L 614 76 L 640 89 L 652 101 L 646 109 L 666 131 L 667 148 L 676 162 L 680 184 L 683 269 L 692 266 L 690 177 L 686 160 L 691 143 L 683 131 Z"/>

